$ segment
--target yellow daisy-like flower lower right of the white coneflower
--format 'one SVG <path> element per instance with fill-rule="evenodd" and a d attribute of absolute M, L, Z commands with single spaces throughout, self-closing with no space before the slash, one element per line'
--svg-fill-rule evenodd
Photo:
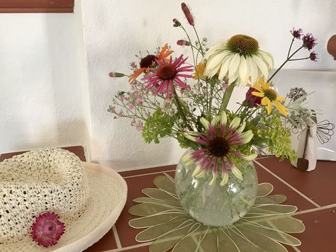
<path fill-rule="evenodd" d="M 287 115 L 287 110 L 279 103 L 279 101 L 286 101 L 284 97 L 278 96 L 278 93 L 270 88 L 269 82 L 265 82 L 264 79 L 259 79 L 259 82 L 253 85 L 253 88 L 257 91 L 252 92 L 253 96 L 262 97 L 262 105 L 267 105 L 267 113 L 271 113 L 271 104 L 273 103 L 275 107 L 280 111 L 284 116 Z"/>

